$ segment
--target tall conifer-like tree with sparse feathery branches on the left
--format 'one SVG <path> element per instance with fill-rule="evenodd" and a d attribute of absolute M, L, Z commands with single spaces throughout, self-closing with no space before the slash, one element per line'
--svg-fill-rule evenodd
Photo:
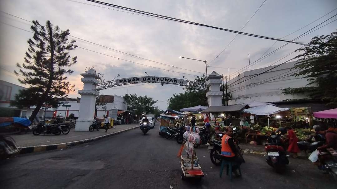
<path fill-rule="evenodd" d="M 71 85 L 64 74 L 73 72 L 65 67 L 76 63 L 77 56 L 71 58 L 69 51 L 77 46 L 73 44 L 75 40 L 68 41 L 69 30 L 61 31 L 50 21 L 45 26 L 33 21 L 30 28 L 34 35 L 33 40 L 28 40 L 25 63 L 17 63 L 19 72 L 25 77 L 18 80 L 30 86 L 20 90 L 10 105 L 18 108 L 36 106 L 29 118 L 33 122 L 43 104 L 57 108 L 59 104 L 54 97 L 66 97 L 74 90 L 75 85 Z M 17 71 L 14 73 L 19 75 Z"/>

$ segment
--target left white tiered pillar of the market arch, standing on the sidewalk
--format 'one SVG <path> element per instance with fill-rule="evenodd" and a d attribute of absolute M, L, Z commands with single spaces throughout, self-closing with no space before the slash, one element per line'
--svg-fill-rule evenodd
<path fill-rule="evenodd" d="M 89 126 L 94 120 L 96 97 L 99 92 L 96 90 L 96 84 L 99 83 L 97 79 L 100 77 L 96 74 L 94 69 L 90 69 L 81 74 L 84 83 L 83 90 L 79 90 L 81 95 L 79 119 L 76 120 L 75 131 L 89 131 Z"/>

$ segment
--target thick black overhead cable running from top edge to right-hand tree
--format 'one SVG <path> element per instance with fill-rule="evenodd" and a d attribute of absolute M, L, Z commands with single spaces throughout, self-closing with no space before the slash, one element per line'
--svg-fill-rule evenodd
<path fill-rule="evenodd" d="M 251 34 L 251 33 L 239 32 L 239 31 L 235 31 L 235 30 L 229 30 L 229 29 L 225 29 L 225 28 L 219 28 L 219 27 L 214 27 L 214 26 L 210 26 L 210 25 L 190 22 L 190 21 L 186 21 L 186 20 L 182 20 L 182 19 L 178 19 L 178 18 L 174 18 L 174 17 L 169 17 L 169 16 L 164 16 L 164 15 L 146 12 L 146 11 L 142 11 L 142 10 L 132 9 L 132 8 L 123 7 L 123 6 L 119 6 L 119 5 L 115 5 L 115 4 L 111 4 L 111 3 L 105 3 L 105 2 L 101 2 L 101 1 L 95 1 L 95 0 L 86 0 L 86 1 L 94 2 L 94 3 L 98 3 L 98 4 L 110 6 L 110 7 L 115 7 L 115 8 L 118 8 L 118 9 L 130 11 L 130 12 L 140 13 L 140 14 L 143 14 L 143 15 L 155 16 L 155 17 L 163 18 L 165 20 L 173 20 L 173 21 L 178 21 L 178 22 L 181 22 L 181 23 L 186 23 L 186 24 L 191 24 L 191 25 L 196 25 L 196 26 L 203 26 L 203 27 L 213 28 L 213 29 L 217 29 L 217 30 L 247 35 L 247 36 L 251 36 L 251 37 L 270 39 L 270 40 L 276 40 L 276 41 L 284 41 L 284 42 L 290 42 L 290 43 L 295 43 L 295 44 L 300 44 L 300 45 L 306 44 L 306 43 L 296 42 L 294 40 L 288 41 L 288 40 L 284 40 L 284 39 L 278 39 L 278 38 L 273 38 L 273 37 Z"/>

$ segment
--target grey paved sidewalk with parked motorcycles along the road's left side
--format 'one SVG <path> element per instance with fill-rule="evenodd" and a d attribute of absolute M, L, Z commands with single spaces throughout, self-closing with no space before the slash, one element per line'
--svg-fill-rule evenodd
<path fill-rule="evenodd" d="M 127 125 L 116 125 L 114 128 L 110 128 L 108 132 L 105 133 L 105 129 L 101 128 L 99 131 L 94 130 L 92 132 L 89 131 L 75 131 L 75 129 L 71 129 L 67 135 L 56 136 L 53 134 L 40 134 L 33 135 L 31 132 L 25 135 L 12 135 L 11 137 L 20 145 L 20 147 L 28 147 L 28 146 L 40 146 L 40 145 L 53 145 L 60 143 L 69 143 L 74 141 L 81 141 L 86 139 L 92 139 L 112 133 L 116 133 L 118 131 L 122 131 L 125 129 L 130 129 L 133 127 L 139 127 L 138 124 L 127 124 Z"/>

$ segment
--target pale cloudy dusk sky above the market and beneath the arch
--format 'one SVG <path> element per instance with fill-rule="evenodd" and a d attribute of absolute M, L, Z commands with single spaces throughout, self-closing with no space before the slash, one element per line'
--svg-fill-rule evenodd
<path fill-rule="evenodd" d="M 237 31 L 242 29 L 249 18 L 251 18 L 258 7 L 264 2 L 264 0 L 102 1 Z M 31 31 L 30 22 L 10 16 L 6 13 L 29 21 L 37 20 L 40 24 L 44 24 L 47 20 L 50 20 L 54 26 L 59 26 L 61 30 L 69 29 L 70 35 L 72 36 L 152 61 L 192 70 L 187 71 L 161 65 L 76 39 L 75 44 L 79 47 L 110 56 L 81 48 L 70 51 L 72 56 L 78 56 L 78 62 L 70 68 L 74 72 L 68 75 L 70 83 L 76 85 L 76 90 L 69 94 L 69 97 L 73 98 L 80 97 L 77 93 L 78 89 L 83 88 L 80 73 L 83 73 L 86 67 L 94 67 L 98 73 L 104 74 L 105 81 L 112 80 L 118 74 L 120 74 L 118 78 L 146 76 L 145 72 L 150 76 L 174 77 L 179 79 L 183 79 L 182 77 L 185 76 L 187 79 L 193 80 L 196 76 L 200 76 L 202 75 L 201 73 L 206 72 L 203 62 L 178 58 L 178 56 L 184 56 L 187 58 L 207 60 L 209 66 L 208 74 L 212 71 L 216 71 L 219 74 L 224 74 L 231 78 L 238 74 L 238 69 L 249 64 L 248 54 L 250 55 L 250 62 L 252 63 L 258 60 L 275 42 L 268 39 L 238 35 L 219 55 L 236 36 L 235 33 L 131 14 L 85 0 L 2 0 L 0 5 L 0 80 L 25 86 L 19 83 L 18 76 L 13 72 L 17 70 L 16 63 L 22 64 L 24 62 L 25 52 L 28 48 L 27 40 L 32 38 L 32 33 L 27 32 Z M 283 38 L 335 8 L 337 8 L 337 1 L 335 0 L 266 0 L 248 24 L 242 29 L 242 32 Z M 284 39 L 293 40 L 335 14 L 337 14 L 337 10 L 332 11 L 328 15 Z M 335 20 L 336 17 L 337 16 L 333 17 L 325 24 Z M 320 26 L 323 25 L 324 24 Z M 336 26 L 337 22 L 332 22 L 296 41 L 310 42 L 314 36 L 327 35 L 331 32 L 335 32 L 337 29 Z M 69 39 L 72 38 L 69 37 Z M 286 44 L 286 42 L 277 42 L 268 52 L 284 44 Z M 288 44 L 261 62 L 252 65 L 251 69 L 269 66 L 300 47 L 301 45 L 298 44 Z M 294 52 L 287 58 L 293 58 L 298 53 L 299 52 Z M 112 58 L 111 56 L 115 56 L 116 58 Z M 215 58 L 216 56 L 218 56 L 218 58 Z M 287 58 L 283 59 L 283 61 L 288 60 Z M 276 64 L 279 63 L 282 63 L 282 61 Z M 230 68 L 229 73 L 228 67 Z M 240 72 L 242 71 L 243 70 Z M 25 87 L 28 86 L 26 85 Z M 149 83 L 113 87 L 101 90 L 100 93 L 120 96 L 124 96 L 125 93 L 137 94 L 139 96 L 146 95 L 158 101 L 155 106 L 165 110 L 167 108 L 167 99 L 173 96 L 173 94 L 183 91 L 182 87 L 177 85 L 166 84 L 161 86 L 160 84 Z"/>

